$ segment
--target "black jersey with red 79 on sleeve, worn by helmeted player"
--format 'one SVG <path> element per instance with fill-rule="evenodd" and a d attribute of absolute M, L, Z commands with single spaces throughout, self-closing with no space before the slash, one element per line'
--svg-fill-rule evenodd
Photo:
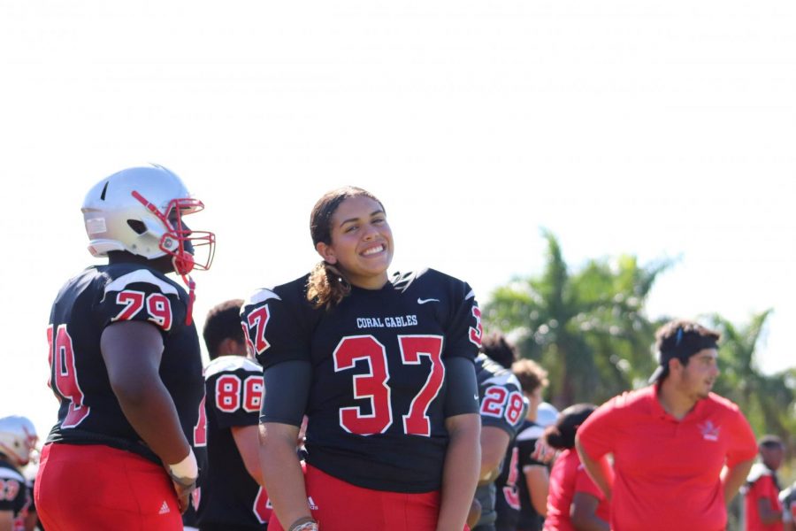
<path fill-rule="evenodd" d="M 49 385 L 60 401 L 48 443 L 104 444 L 160 464 L 135 433 L 113 394 L 100 351 L 105 327 L 121 320 L 152 323 L 163 335 L 160 377 L 188 438 L 201 431 L 202 358 L 188 294 L 163 273 L 140 264 L 88 267 L 67 281 L 50 313 Z"/>

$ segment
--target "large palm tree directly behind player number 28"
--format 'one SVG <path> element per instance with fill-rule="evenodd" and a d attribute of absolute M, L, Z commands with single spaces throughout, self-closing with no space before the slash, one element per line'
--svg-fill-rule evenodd
<path fill-rule="evenodd" d="M 590 260 L 570 274 L 555 235 L 542 235 L 544 271 L 496 289 L 485 307 L 487 327 L 517 337 L 521 354 L 548 370 L 554 404 L 599 404 L 652 372 L 656 323 L 643 307 L 670 262 L 641 267 L 623 256 Z"/>

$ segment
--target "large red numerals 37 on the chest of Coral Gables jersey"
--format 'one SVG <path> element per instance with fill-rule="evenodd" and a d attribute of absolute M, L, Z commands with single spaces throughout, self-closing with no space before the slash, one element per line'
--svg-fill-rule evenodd
<path fill-rule="evenodd" d="M 407 435 L 431 435 L 431 423 L 426 414 L 432 400 L 440 394 L 445 376 L 442 364 L 442 336 L 399 335 L 401 361 L 404 365 L 419 365 L 420 358 L 431 360 L 431 368 L 425 384 L 412 399 L 409 412 L 403 415 L 403 431 Z M 349 433 L 373 435 L 384 433 L 393 424 L 393 406 L 390 401 L 392 389 L 387 366 L 387 350 L 372 335 L 344 337 L 333 353 L 334 371 L 354 368 L 357 360 L 365 360 L 368 372 L 353 376 L 354 397 L 366 398 L 371 403 L 371 412 L 364 413 L 359 406 L 340 410 L 340 425 Z"/>

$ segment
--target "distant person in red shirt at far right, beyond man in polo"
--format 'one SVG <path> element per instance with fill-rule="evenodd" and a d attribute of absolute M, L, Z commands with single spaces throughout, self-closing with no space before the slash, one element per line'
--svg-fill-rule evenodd
<path fill-rule="evenodd" d="M 777 469 L 785 458 L 785 445 L 776 435 L 765 435 L 758 443 L 760 463 L 755 463 L 744 486 L 746 531 L 782 531 Z"/>

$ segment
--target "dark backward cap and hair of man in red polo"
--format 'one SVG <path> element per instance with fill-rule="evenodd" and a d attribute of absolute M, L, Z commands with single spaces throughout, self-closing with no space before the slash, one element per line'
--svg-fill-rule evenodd
<path fill-rule="evenodd" d="M 655 350 L 662 361 L 662 373 L 656 381 L 662 382 L 669 376 L 670 358 L 677 358 L 684 366 L 688 360 L 703 349 L 715 349 L 721 335 L 715 330 L 701 326 L 686 319 L 672 320 L 655 332 Z"/>

